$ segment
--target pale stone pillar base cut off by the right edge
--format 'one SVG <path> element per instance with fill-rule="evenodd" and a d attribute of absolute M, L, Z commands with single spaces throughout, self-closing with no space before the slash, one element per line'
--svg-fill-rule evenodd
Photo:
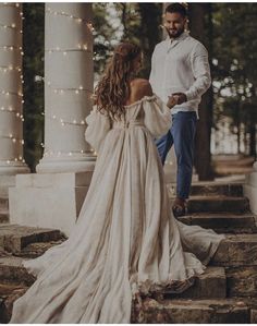
<path fill-rule="evenodd" d="M 253 168 L 254 171 L 245 178 L 244 195 L 249 200 L 250 210 L 257 214 L 257 161 Z"/>

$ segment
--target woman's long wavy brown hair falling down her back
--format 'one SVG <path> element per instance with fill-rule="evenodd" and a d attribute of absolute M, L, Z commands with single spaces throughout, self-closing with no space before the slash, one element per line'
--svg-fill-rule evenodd
<path fill-rule="evenodd" d="M 133 61 L 140 52 L 142 49 L 131 43 L 122 43 L 115 48 L 95 89 L 98 111 L 114 120 L 124 114 L 124 105 L 131 92 L 130 81 L 135 72 Z"/>

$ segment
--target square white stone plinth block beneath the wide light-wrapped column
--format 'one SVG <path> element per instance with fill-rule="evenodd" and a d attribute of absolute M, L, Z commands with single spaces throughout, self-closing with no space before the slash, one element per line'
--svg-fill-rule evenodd
<path fill-rule="evenodd" d="M 68 237 L 76 222 L 93 172 L 19 174 L 9 189 L 10 222 L 60 229 Z"/>

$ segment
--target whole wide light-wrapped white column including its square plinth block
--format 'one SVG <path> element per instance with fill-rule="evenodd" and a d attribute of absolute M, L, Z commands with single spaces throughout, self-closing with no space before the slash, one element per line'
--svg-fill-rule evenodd
<path fill-rule="evenodd" d="M 16 176 L 9 191 L 12 224 L 69 236 L 79 215 L 96 160 L 84 136 L 94 81 L 90 20 L 90 3 L 46 3 L 45 153 L 38 173 Z"/>

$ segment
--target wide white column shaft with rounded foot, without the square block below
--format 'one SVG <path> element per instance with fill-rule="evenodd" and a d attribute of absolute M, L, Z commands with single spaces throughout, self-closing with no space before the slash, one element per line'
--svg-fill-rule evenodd
<path fill-rule="evenodd" d="M 45 153 L 39 173 L 88 171 L 85 142 L 94 85 L 90 3 L 46 3 Z"/>

